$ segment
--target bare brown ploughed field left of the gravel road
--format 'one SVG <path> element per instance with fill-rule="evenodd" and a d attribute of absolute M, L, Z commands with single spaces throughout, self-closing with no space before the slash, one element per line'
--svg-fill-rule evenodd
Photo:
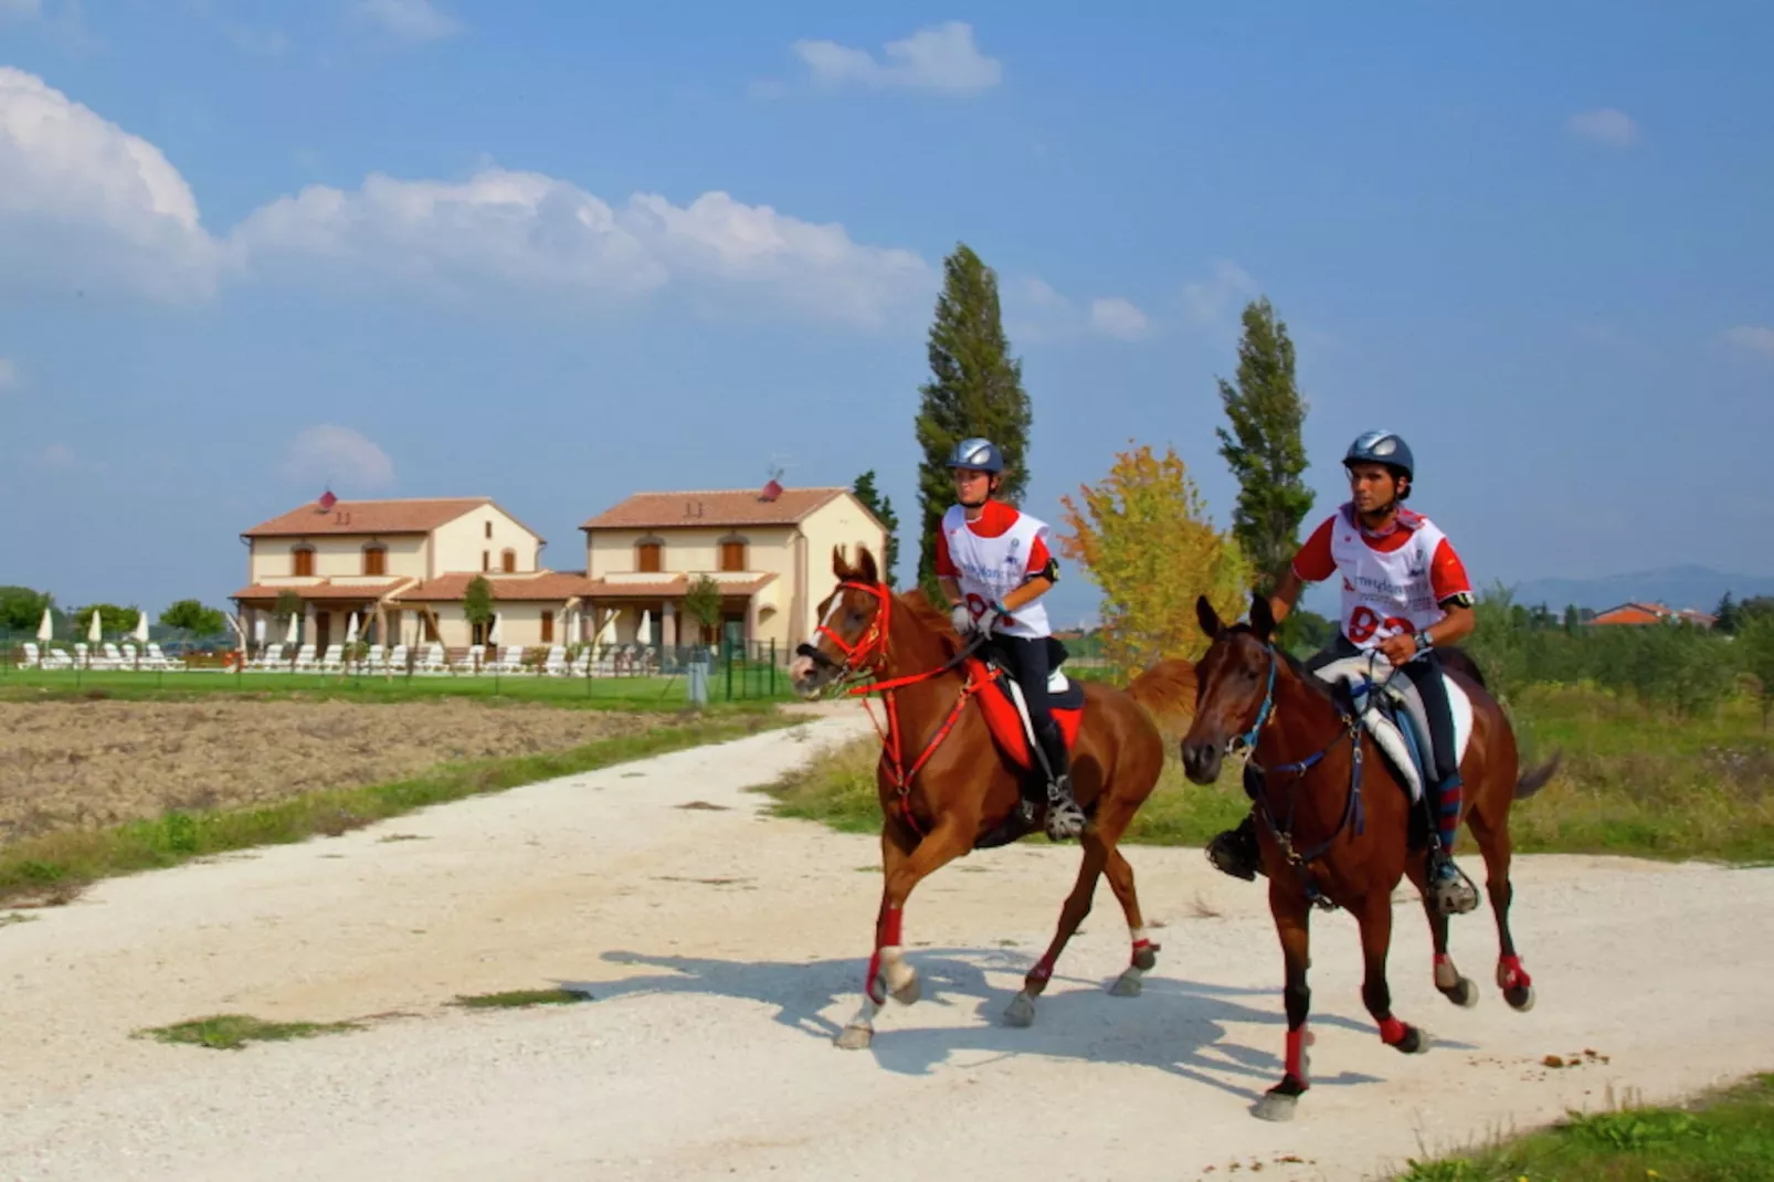
<path fill-rule="evenodd" d="M 263 804 L 438 763 L 562 751 L 667 722 L 458 699 L 0 703 L 0 845 L 172 808 Z"/>

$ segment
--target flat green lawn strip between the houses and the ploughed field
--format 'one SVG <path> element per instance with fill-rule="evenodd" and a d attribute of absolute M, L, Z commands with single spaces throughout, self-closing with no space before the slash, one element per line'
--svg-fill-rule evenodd
<path fill-rule="evenodd" d="M 791 701 L 788 678 L 781 671 L 775 692 L 757 669 L 749 685 L 734 673 L 734 701 L 756 705 Z M 724 701 L 726 676 L 717 671 L 708 685 L 713 706 Z M 5 669 L 0 673 L 0 703 L 57 701 L 75 697 L 115 697 L 121 701 L 192 701 L 213 696 L 273 701 L 431 701 L 436 697 L 475 697 L 497 701 L 534 701 L 550 706 L 591 706 L 598 710 L 679 710 L 685 705 L 683 678 L 545 678 L 545 676 L 355 676 L 325 673 L 44 673 L 41 669 Z"/>

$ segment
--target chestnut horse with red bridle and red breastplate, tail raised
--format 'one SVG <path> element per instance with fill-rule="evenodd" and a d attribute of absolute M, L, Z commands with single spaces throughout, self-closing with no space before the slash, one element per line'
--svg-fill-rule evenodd
<path fill-rule="evenodd" d="M 789 678 L 809 697 L 837 685 L 852 694 L 878 692 L 887 713 L 885 728 L 876 722 L 883 886 L 875 953 L 862 981 L 862 1008 L 836 1040 L 860 1051 L 873 1042 L 875 1015 L 889 994 L 901 1005 L 919 999 L 917 969 L 905 962 L 901 935 L 912 889 L 956 857 L 1031 832 L 1040 815 L 1027 820 L 1017 813 L 1031 767 L 1020 717 L 986 662 L 963 646 L 947 614 L 935 611 L 921 591 L 898 595 L 887 587 L 867 547 L 859 548 L 855 566 L 834 547 L 832 573 L 837 587 L 818 605 L 821 623 L 797 650 Z M 1174 715 L 1181 729 L 1189 717 L 1194 666 L 1160 660 L 1126 690 L 1103 682 L 1077 685 L 1082 706 L 1066 710 L 1056 703 L 1056 719 L 1071 745 L 1073 793 L 1089 816 L 1084 863 L 1059 912 L 1054 941 L 1004 1012 L 1011 1026 L 1034 1020 L 1034 999 L 1089 914 L 1100 875 L 1109 877 L 1134 942 L 1132 962 L 1111 992 L 1139 994 L 1141 976 L 1157 965 L 1158 946 L 1146 937 L 1134 868 L 1116 843 L 1164 768 L 1158 721 Z M 1040 808 L 1045 809 L 1045 793 Z"/>

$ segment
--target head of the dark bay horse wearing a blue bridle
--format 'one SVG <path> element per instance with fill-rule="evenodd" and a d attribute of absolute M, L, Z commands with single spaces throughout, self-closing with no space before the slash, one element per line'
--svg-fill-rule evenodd
<path fill-rule="evenodd" d="M 1274 710 L 1276 653 L 1268 641 L 1276 618 L 1268 598 L 1252 595 L 1251 623 L 1226 625 L 1203 595 L 1196 619 L 1212 644 L 1196 664 L 1196 721 L 1183 737 L 1183 772 L 1197 784 L 1212 784 L 1226 745 L 1238 737 L 1254 745 Z"/>

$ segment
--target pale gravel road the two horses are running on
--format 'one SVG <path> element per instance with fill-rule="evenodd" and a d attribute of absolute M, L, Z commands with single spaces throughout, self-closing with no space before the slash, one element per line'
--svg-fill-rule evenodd
<path fill-rule="evenodd" d="M 1400 1056 L 1361 1008 L 1354 923 L 1315 918 L 1316 1086 L 1263 1123 L 1281 955 L 1263 891 L 1199 850 L 1128 850 L 1164 946 L 1144 996 L 1103 992 L 1126 932 L 1102 887 L 1036 1024 L 999 1020 L 1075 873 L 1045 843 L 912 896 L 924 999 L 839 1051 L 876 843 L 761 818 L 745 788 L 866 731 L 837 713 L 0 912 L 0 1177 L 1348 1180 L 1774 1067 L 1774 870 L 1527 857 L 1538 1006 L 1490 987 L 1483 909 L 1455 957 L 1485 996 L 1442 1001 L 1410 903 L 1394 1003 L 1437 1045 Z M 594 999 L 451 1005 L 562 983 Z M 220 1012 L 378 1017 L 234 1052 L 130 1036 Z"/>

